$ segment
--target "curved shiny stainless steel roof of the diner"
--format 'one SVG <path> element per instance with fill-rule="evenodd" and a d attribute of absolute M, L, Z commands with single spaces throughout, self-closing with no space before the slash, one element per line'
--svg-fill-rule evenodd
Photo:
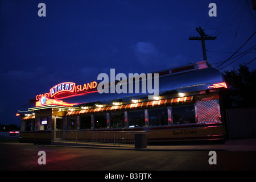
<path fill-rule="evenodd" d="M 185 72 L 176 75 L 168 75 L 159 77 L 159 95 L 187 93 L 200 90 L 207 90 L 208 86 L 224 82 L 221 73 L 215 68 L 199 69 L 191 72 Z M 140 92 L 141 92 L 141 85 Z M 154 84 L 152 83 L 154 86 Z M 128 88 L 128 86 L 127 86 Z M 148 91 L 148 90 L 147 90 Z M 102 104 L 111 103 L 114 100 L 121 99 L 122 101 L 131 101 L 132 99 L 147 98 L 150 93 L 88 93 L 82 96 L 75 96 L 61 99 L 68 103 L 88 103 L 101 102 Z"/>

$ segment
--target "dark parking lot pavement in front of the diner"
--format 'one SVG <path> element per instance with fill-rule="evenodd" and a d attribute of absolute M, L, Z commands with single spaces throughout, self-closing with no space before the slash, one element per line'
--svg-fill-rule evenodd
<path fill-rule="evenodd" d="M 209 150 L 217 165 L 209 164 Z M 46 152 L 40 165 L 39 151 Z M 0 143 L 0 170 L 47 171 L 170 171 L 255 170 L 255 139 L 228 140 L 220 144 L 133 147 L 53 146 Z"/>

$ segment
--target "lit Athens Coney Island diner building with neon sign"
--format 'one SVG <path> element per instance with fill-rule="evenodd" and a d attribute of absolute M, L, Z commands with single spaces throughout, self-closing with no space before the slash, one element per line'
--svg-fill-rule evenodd
<path fill-rule="evenodd" d="M 138 73 L 129 81 L 130 90 L 128 81 L 111 78 L 108 84 L 96 78 L 45 85 L 16 114 L 20 142 L 51 141 L 53 131 L 145 131 L 148 142 L 224 139 L 220 90 L 227 86 L 207 61 Z"/>

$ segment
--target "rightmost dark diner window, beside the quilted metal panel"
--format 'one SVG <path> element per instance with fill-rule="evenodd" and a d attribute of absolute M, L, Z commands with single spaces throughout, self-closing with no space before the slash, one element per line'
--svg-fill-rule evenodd
<path fill-rule="evenodd" d="M 174 125 L 184 125 L 196 123 L 194 105 L 174 106 L 172 107 L 172 117 Z"/>

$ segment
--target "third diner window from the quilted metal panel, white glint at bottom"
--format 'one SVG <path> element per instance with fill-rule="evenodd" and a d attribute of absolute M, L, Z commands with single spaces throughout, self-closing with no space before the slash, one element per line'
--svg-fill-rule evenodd
<path fill-rule="evenodd" d="M 142 127 L 145 126 L 145 113 L 144 110 L 129 111 L 129 127 Z"/>

